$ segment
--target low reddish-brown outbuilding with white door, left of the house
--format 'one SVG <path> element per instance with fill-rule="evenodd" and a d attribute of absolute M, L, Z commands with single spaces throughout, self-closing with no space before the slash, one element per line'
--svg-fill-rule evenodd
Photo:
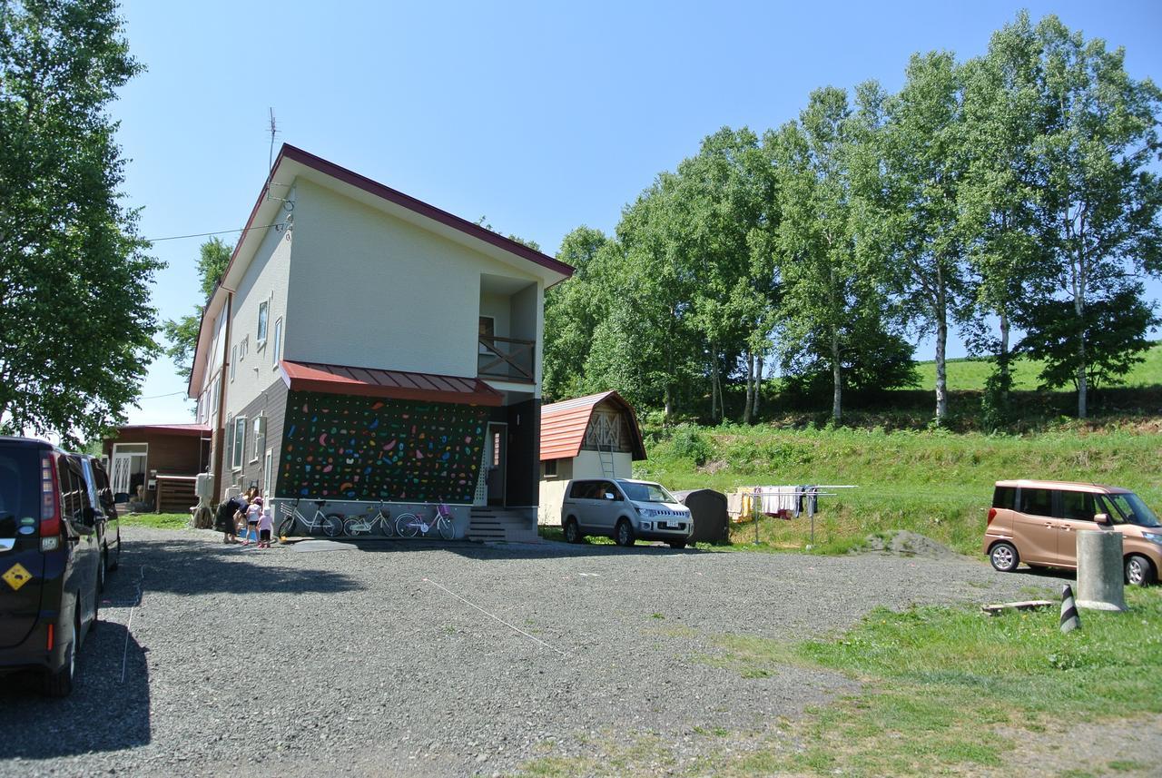
<path fill-rule="evenodd" d="M 130 424 L 102 446 L 114 492 L 146 510 L 184 513 L 209 466 L 208 424 Z M 148 506 L 148 507 L 146 507 Z"/>

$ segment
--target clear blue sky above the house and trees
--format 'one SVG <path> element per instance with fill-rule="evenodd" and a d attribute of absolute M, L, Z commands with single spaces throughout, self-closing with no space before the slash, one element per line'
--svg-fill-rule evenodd
<path fill-rule="evenodd" d="M 981 53 L 1020 8 L 1125 46 L 1132 75 L 1162 80 L 1156 2 L 321 8 L 124 2 L 130 48 L 149 70 L 112 110 L 144 237 L 243 226 L 266 174 L 272 107 L 279 142 L 555 253 L 575 226 L 612 230 L 626 202 L 719 127 L 777 127 L 825 85 L 897 88 L 912 52 Z M 155 245 L 168 262 L 153 296 L 163 318 L 200 302 L 202 240 Z M 184 389 L 159 359 L 129 422 L 188 420 Z"/>

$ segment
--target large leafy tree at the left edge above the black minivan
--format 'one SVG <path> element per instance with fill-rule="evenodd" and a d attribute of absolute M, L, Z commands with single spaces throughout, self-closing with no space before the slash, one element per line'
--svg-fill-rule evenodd
<path fill-rule="evenodd" d="M 142 66 L 112 0 L 0 2 L 0 430 L 123 423 L 156 351 L 162 266 L 122 206 L 108 103 Z"/>

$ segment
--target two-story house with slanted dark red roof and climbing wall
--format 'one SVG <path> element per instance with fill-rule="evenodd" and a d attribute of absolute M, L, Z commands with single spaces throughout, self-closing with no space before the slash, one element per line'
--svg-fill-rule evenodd
<path fill-rule="evenodd" d="M 568 265 L 284 145 L 202 317 L 218 497 L 536 527 L 543 301 Z M 500 517 L 487 517 L 489 509 Z M 310 506 L 314 510 L 314 506 Z M 429 514 L 431 509 L 426 509 Z"/>

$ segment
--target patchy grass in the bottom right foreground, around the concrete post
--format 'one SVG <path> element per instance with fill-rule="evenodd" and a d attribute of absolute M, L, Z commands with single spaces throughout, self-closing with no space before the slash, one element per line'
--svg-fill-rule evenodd
<path fill-rule="evenodd" d="M 860 690 L 795 722 L 696 727 L 704 756 L 684 769 L 667 741 L 614 739 L 589 757 L 532 761 L 524 775 L 652 775 L 659 764 L 691 776 L 1153 775 L 1133 743 L 1142 716 L 1162 714 L 1162 590 L 1127 600 L 1128 613 L 1083 611 L 1068 635 L 1056 608 L 949 607 L 880 608 L 831 640 L 711 635 L 719 650 L 705 661 L 744 678 L 794 664 L 842 672 Z"/>

